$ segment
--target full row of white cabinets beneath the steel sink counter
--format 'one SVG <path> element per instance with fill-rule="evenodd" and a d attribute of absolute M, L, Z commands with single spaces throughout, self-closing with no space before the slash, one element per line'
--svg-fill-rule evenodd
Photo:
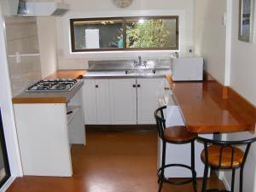
<path fill-rule="evenodd" d="M 86 125 L 155 124 L 166 79 L 84 79 Z"/>

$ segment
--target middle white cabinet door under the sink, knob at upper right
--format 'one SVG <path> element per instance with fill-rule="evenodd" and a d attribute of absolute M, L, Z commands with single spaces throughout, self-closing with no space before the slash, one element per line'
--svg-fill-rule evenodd
<path fill-rule="evenodd" d="M 135 85 L 136 79 L 109 80 L 113 125 L 137 124 L 137 89 Z"/>

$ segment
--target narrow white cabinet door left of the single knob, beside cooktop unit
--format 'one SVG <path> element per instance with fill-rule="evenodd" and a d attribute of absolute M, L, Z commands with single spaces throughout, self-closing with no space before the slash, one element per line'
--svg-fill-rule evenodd
<path fill-rule="evenodd" d="M 84 80 L 83 105 L 85 125 L 97 124 L 95 80 Z"/>

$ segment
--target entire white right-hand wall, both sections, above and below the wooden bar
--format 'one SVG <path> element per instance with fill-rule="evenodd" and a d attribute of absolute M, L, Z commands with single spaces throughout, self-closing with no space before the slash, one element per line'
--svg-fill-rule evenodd
<path fill-rule="evenodd" d="M 228 20 L 226 26 L 223 26 L 222 17 L 225 12 Z M 238 15 L 239 0 L 195 0 L 195 52 L 205 58 L 207 71 L 215 79 L 224 85 L 230 85 L 255 105 L 256 44 L 255 40 L 253 44 L 238 41 Z M 256 20 L 254 26 L 255 24 Z M 255 32 L 256 30 L 254 39 Z M 255 137 L 255 134 L 244 132 L 227 134 L 224 137 L 228 140 L 241 140 Z M 243 191 L 255 191 L 255 160 L 256 145 L 253 144 L 245 166 Z M 230 172 L 224 172 L 227 186 L 230 186 L 230 176 Z M 238 184 L 239 177 L 236 174 L 235 191 L 238 191 Z"/>

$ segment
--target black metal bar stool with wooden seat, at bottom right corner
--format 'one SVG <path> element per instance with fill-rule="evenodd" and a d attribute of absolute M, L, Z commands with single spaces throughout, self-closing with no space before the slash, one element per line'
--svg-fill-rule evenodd
<path fill-rule="evenodd" d="M 201 152 L 201 160 L 205 164 L 204 177 L 201 192 L 220 191 L 234 192 L 236 169 L 240 167 L 239 192 L 242 192 L 243 168 L 247 160 L 247 154 L 251 144 L 256 141 L 256 137 L 242 141 L 217 141 L 203 137 L 198 140 L 204 144 Z M 243 152 L 236 145 L 246 145 Z M 213 170 L 232 170 L 231 190 L 226 189 L 207 189 L 207 174 L 209 167 Z"/>

